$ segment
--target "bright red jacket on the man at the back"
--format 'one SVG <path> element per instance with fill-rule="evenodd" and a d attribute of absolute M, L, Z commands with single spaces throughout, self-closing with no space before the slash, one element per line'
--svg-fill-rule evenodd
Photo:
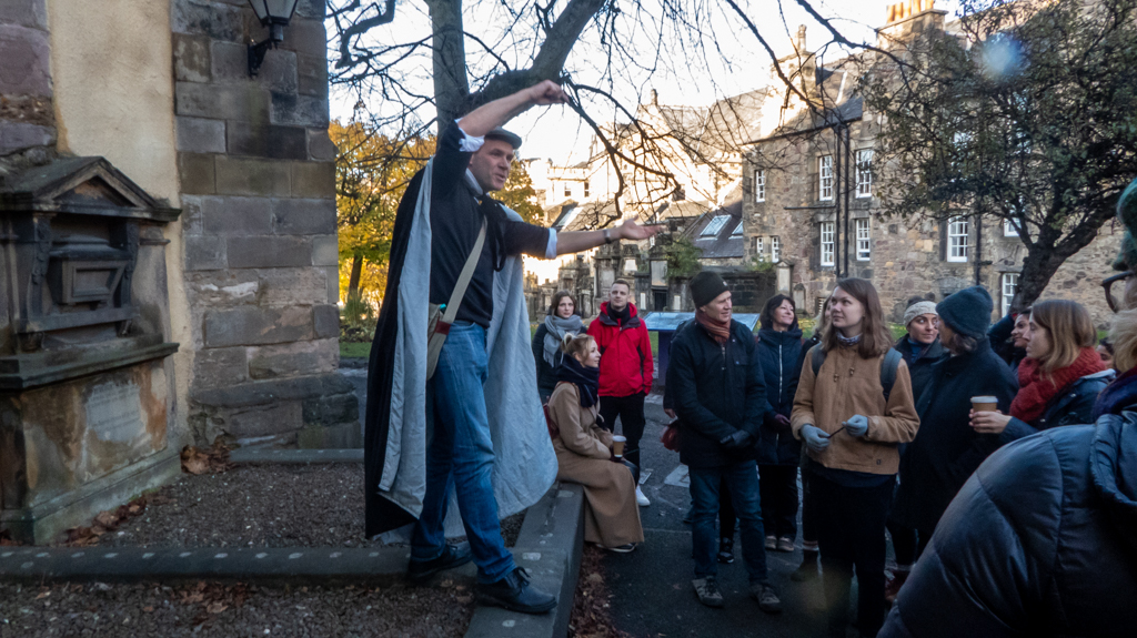
<path fill-rule="evenodd" d="M 588 325 L 588 334 L 600 349 L 600 396 L 631 396 L 652 392 L 652 338 L 640 320 L 636 304 L 628 304 L 629 319 L 616 325 L 608 316 L 608 302 L 600 304 L 600 316 Z"/>

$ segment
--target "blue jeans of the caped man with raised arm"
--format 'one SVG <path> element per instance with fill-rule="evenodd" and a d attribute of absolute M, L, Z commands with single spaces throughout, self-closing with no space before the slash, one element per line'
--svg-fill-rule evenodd
<path fill-rule="evenodd" d="M 432 391 L 428 396 L 433 395 L 434 434 L 426 448 L 426 494 L 410 538 L 410 556 L 429 561 L 446 549 L 442 523 L 453 488 L 458 495 L 478 579 L 493 582 L 516 565 L 501 540 L 501 522 L 490 481 L 493 442 L 482 394 L 487 368 L 485 329 L 467 321 L 455 322 L 434 377 L 426 381 Z"/>

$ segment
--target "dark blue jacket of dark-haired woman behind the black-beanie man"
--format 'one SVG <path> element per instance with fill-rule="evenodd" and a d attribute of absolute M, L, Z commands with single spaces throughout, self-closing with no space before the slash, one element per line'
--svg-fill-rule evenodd
<path fill-rule="evenodd" d="M 789 417 L 794 395 L 802 377 L 802 330 L 779 333 L 772 328 L 758 330 L 758 361 L 766 381 L 766 406 L 758 431 L 758 464 L 797 465 L 802 460 L 802 442 L 788 427 L 778 427 L 774 417 Z"/>

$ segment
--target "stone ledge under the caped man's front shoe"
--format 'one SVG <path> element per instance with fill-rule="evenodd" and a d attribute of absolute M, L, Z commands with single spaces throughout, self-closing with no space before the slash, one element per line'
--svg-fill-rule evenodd
<path fill-rule="evenodd" d="M 514 560 L 529 570 L 537 587 L 557 595 L 555 610 L 530 615 L 479 606 L 466 638 L 563 638 L 568 635 L 580 560 L 584 549 L 584 488 L 557 484 L 525 512 L 513 548 Z"/>

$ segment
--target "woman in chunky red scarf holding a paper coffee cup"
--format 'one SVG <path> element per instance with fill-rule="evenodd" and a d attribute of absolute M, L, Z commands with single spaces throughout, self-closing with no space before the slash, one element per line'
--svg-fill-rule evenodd
<path fill-rule="evenodd" d="M 972 412 L 971 427 L 1010 443 L 1057 426 L 1093 423 L 1094 402 L 1114 372 L 1094 350 L 1097 331 L 1089 312 L 1072 301 L 1039 302 L 1027 338 L 1011 413 Z"/>

